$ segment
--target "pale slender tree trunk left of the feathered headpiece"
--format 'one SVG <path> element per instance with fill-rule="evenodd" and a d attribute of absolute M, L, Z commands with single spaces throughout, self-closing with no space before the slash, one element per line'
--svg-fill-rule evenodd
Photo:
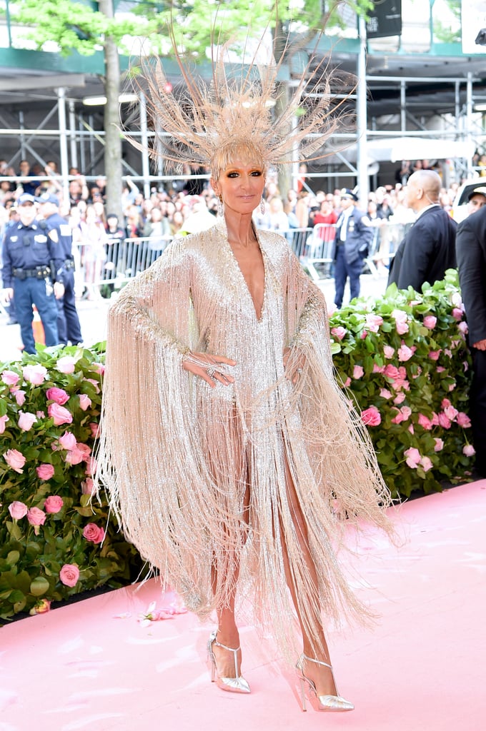
<path fill-rule="evenodd" d="M 100 0 L 100 12 L 113 18 L 113 0 Z M 122 211 L 122 137 L 119 132 L 120 61 L 113 39 L 105 39 L 105 175 L 107 213 L 116 213 L 123 221 Z"/>

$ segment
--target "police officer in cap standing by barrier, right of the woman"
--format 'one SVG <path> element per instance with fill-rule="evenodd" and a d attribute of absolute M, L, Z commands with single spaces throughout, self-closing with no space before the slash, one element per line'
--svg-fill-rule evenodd
<path fill-rule="evenodd" d="M 342 213 L 336 224 L 334 239 L 334 303 L 343 304 L 346 279 L 349 277 L 350 299 L 359 297 L 359 276 L 362 273 L 364 258 L 373 240 L 374 230 L 364 211 L 356 208 L 358 196 L 352 190 L 341 191 Z"/>

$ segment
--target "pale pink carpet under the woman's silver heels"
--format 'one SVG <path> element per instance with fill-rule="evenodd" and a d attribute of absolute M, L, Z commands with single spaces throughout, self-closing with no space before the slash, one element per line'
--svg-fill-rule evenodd
<path fill-rule="evenodd" d="M 329 635 L 343 715 L 302 713 L 293 673 L 242 627 L 250 696 L 209 683 L 212 626 L 190 615 L 142 626 L 153 581 L 0 629 L 0 731 L 484 731 L 486 481 L 403 504 L 403 548 L 361 545 L 374 631 Z"/>

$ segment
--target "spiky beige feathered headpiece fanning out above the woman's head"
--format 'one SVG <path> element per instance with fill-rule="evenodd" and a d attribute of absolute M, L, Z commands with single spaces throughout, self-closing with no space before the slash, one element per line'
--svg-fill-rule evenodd
<path fill-rule="evenodd" d="M 238 64 L 237 72 L 233 64 L 225 62 L 231 42 L 213 45 L 208 82 L 190 70 L 177 48 L 173 29 L 170 33 L 183 83 L 167 91 L 171 84 L 160 58 L 146 61 L 143 74 L 137 77 L 154 128 L 160 131 L 154 156 L 162 155 L 174 169 L 184 163 L 209 165 L 214 175 L 214 161 L 222 148 L 239 143 L 258 151 L 266 167 L 328 154 L 322 150 L 324 143 L 338 121 L 342 124 L 350 116 L 345 101 L 356 86 L 354 76 L 341 75 L 341 93 L 333 95 L 331 80 L 336 72 L 329 68 L 328 58 L 311 53 L 299 76 L 292 77 L 284 90 L 279 72 L 294 49 L 285 42 L 278 62 L 272 53 L 270 61 L 262 64 L 258 61 L 262 36 L 250 64 Z M 343 94 L 343 86 L 348 88 L 347 94 Z"/>

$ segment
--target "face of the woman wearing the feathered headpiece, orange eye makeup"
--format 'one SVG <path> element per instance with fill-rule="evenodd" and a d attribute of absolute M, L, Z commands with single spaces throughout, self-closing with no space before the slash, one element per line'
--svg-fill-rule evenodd
<path fill-rule="evenodd" d="M 265 175 L 263 165 L 235 159 L 220 172 L 217 181 L 211 181 L 212 189 L 223 198 L 225 211 L 253 213 L 260 204 Z"/>

